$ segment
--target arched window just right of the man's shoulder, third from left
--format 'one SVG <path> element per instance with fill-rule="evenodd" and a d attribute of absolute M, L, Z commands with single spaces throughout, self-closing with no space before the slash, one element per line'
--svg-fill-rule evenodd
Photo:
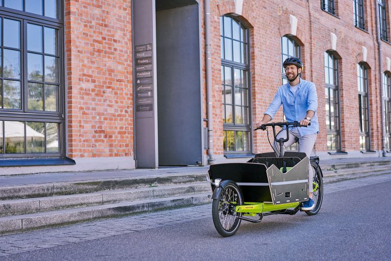
<path fill-rule="evenodd" d="M 338 78 L 337 57 L 326 51 L 324 53 L 324 82 L 328 151 L 341 151 Z"/>

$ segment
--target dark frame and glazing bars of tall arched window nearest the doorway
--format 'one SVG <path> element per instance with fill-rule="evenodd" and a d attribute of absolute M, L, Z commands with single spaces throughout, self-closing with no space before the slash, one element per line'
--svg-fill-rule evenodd
<path fill-rule="evenodd" d="M 235 17 L 232 17 L 232 16 L 229 16 L 229 15 L 223 15 L 223 16 L 220 16 L 220 19 L 222 19 L 223 21 L 221 22 L 220 21 L 220 25 L 222 28 L 220 28 L 220 44 L 222 45 L 223 41 L 225 38 L 227 39 L 231 39 L 232 41 L 237 41 L 233 38 L 233 27 L 231 26 L 231 37 L 226 37 L 224 35 L 224 17 L 229 17 L 230 19 L 232 19 L 232 21 L 236 21 L 238 24 L 239 24 L 239 28 L 240 28 L 240 32 L 242 33 L 243 31 L 245 32 L 245 36 L 243 37 L 243 40 L 241 39 L 239 42 L 240 43 L 245 43 L 246 44 L 246 50 L 245 50 L 245 55 L 246 55 L 246 63 L 239 63 L 239 62 L 235 62 L 234 61 L 234 48 L 232 48 L 232 60 L 227 60 L 227 59 L 224 59 L 225 58 L 225 54 L 224 56 L 221 54 L 221 67 L 231 67 L 231 79 L 232 79 L 232 123 L 227 123 L 225 122 L 225 119 L 223 120 L 223 136 L 226 140 L 226 145 L 224 146 L 223 144 L 223 151 L 224 151 L 224 154 L 225 155 L 229 155 L 229 154 L 248 154 L 248 153 L 252 153 L 252 128 L 251 128 L 251 121 L 252 121 L 252 115 L 251 115 L 251 77 L 250 77 L 250 59 L 249 59 L 249 54 L 250 54 L 250 43 L 249 43 L 249 30 L 248 28 L 246 28 L 243 24 L 242 21 L 240 21 L 239 19 L 235 18 Z M 244 29 L 244 30 L 242 30 Z M 222 40 L 221 40 L 222 39 Z M 241 55 L 242 54 L 242 49 L 240 48 L 241 50 Z M 221 46 L 221 51 L 225 51 L 225 46 Z M 223 58 L 224 57 L 224 58 Z M 241 59 L 242 61 L 242 59 Z M 245 70 L 247 71 L 247 114 L 248 114 L 248 123 L 245 124 L 245 123 L 236 123 L 236 119 L 235 119 L 235 110 L 236 110 L 236 104 L 235 104 L 235 81 L 234 81 L 234 72 L 235 72 L 235 68 L 236 69 L 239 69 L 239 70 Z M 222 87 L 225 87 L 226 85 L 224 83 L 221 83 L 221 86 Z M 224 111 L 224 117 L 226 117 L 225 115 L 225 106 L 226 106 L 226 103 L 225 103 L 225 100 L 223 98 L 222 100 L 222 107 L 223 107 L 223 111 Z M 241 107 L 245 107 L 245 106 L 242 106 Z M 248 133 L 248 150 L 244 150 L 244 147 L 243 147 L 243 150 L 236 150 L 236 142 L 234 142 L 234 150 L 226 150 L 226 147 L 227 147 L 227 131 L 234 131 L 234 141 L 236 141 L 236 132 L 247 132 Z M 242 137 L 243 139 L 243 146 L 244 146 L 244 136 Z"/>

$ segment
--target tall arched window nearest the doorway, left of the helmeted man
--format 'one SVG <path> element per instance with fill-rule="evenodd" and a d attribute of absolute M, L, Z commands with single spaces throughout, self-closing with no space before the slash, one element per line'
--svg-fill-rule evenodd
<path fill-rule="evenodd" d="M 220 36 L 224 151 L 249 153 L 248 30 L 236 18 L 221 16 Z"/>

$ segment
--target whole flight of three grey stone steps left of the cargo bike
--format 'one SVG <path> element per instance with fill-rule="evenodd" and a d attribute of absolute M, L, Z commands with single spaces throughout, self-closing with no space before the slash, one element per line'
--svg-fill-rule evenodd
<path fill-rule="evenodd" d="M 209 203 L 206 172 L 0 188 L 0 234 Z"/>

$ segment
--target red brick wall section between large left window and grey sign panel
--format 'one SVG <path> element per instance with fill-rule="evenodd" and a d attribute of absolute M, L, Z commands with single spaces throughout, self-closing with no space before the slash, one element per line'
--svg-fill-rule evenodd
<path fill-rule="evenodd" d="M 71 158 L 133 155 L 131 4 L 66 0 Z"/>

